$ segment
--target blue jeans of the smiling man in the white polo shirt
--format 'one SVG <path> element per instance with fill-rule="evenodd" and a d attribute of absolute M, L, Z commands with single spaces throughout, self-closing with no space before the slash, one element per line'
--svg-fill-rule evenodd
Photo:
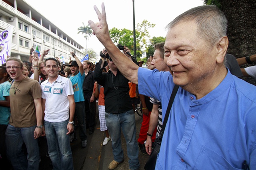
<path fill-rule="evenodd" d="M 44 121 L 48 153 L 54 170 L 74 170 L 73 158 L 67 133 L 68 120 Z"/>

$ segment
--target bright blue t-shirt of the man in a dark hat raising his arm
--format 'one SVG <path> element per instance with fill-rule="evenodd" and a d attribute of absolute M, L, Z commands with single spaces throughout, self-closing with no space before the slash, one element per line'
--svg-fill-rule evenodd
<path fill-rule="evenodd" d="M 80 72 L 75 76 L 70 76 L 70 81 L 72 82 L 74 90 L 74 99 L 75 102 L 84 101 L 84 92 L 83 92 L 83 83 L 84 83 L 85 74 L 81 75 Z"/>

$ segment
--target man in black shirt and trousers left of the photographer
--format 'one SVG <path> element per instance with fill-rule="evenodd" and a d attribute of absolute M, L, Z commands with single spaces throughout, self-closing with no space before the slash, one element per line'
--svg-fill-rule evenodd
<path fill-rule="evenodd" d="M 94 132 L 95 125 L 95 115 L 96 115 L 96 101 L 94 100 L 93 87 L 94 87 L 94 78 L 93 72 L 90 70 L 92 67 L 92 63 L 88 60 L 83 61 L 82 63 L 84 68 L 84 83 L 83 83 L 83 91 L 84 91 L 84 106 L 85 106 L 85 117 L 86 117 L 86 125 L 89 126 L 89 135 Z"/>

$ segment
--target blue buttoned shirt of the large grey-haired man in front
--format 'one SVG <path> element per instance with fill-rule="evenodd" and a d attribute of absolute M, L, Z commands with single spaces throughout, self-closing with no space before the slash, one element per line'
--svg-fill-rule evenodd
<path fill-rule="evenodd" d="M 162 102 L 163 119 L 174 88 L 170 72 L 139 68 L 140 94 Z M 201 99 L 178 89 L 156 170 L 256 169 L 256 87 L 233 76 Z"/>

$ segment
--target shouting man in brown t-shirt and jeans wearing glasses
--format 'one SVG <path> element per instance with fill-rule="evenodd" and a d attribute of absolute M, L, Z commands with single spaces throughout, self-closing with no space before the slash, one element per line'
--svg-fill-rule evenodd
<path fill-rule="evenodd" d="M 6 70 L 14 79 L 10 89 L 11 117 L 6 129 L 7 156 L 14 169 L 39 169 L 38 137 L 42 135 L 40 84 L 22 74 L 20 59 L 9 58 Z M 22 150 L 25 143 L 27 156 Z"/>

